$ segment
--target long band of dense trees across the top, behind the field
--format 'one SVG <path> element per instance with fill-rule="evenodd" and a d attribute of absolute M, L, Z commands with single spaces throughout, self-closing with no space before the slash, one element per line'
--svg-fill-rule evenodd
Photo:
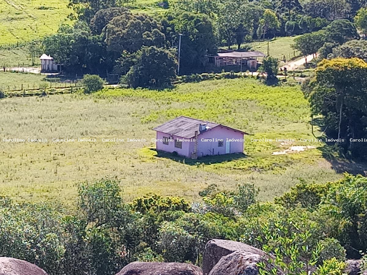
<path fill-rule="evenodd" d="M 353 20 L 365 2 L 185 0 L 146 15 L 132 13 L 129 1 L 73 0 L 73 25 L 29 48 L 33 57 L 41 48 L 71 75 L 114 74 L 132 87 L 158 87 L 177 73 L 180 38 L 180 74 L 207 72 L 214 70 L 207 55 L 220 46 L 317 32 L 335 20 Z"/>

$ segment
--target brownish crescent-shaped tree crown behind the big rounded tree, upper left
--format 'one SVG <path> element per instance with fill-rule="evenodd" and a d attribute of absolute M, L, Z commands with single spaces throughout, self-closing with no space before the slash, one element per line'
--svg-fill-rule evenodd
<path fill-rule="evenodd" d="M 127 8 L 122 7 L 114 7 L 114 8 L 106 8 L 103 10 L 97 11 L 90 22 L 90 29 L 93 34 L 101 34 L 103 28 L 108 24 L 111 19 L 122 15 L 124 12 L 131 12 Z"/>

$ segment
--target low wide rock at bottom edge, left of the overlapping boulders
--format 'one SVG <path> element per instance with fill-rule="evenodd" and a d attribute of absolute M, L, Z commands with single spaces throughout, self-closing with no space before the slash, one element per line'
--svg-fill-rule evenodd
<path fill-rule="evenodd" d="M 134 262 L 116 275 L 203 275 L 203 272 L 192 264 Z"/>

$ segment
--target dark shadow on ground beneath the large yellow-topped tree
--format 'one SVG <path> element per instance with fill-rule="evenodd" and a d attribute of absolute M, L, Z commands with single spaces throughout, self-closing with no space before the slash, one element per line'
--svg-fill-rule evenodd
<path fill-rule="evenodd" d="M 331 164 L 331 168 L 337 173 L 348 172 L 352 175 L 367 176 L 367 161 L 366 160 L 348 160 L 338 156 L 334 147 L 331 145 L 324 145 L 318 147 L 318 150 L 322 152 L 322 156 Z"/>

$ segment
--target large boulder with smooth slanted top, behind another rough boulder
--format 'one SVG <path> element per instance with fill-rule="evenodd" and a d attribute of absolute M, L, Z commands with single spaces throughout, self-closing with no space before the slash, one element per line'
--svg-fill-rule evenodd
<path fill-rule="evenodd" d="M 244 254 L 241 254 L 243 257 L 245 254 L 248 254 L 246 256 L 248 258 L 248 261 L 250 261 L 251 259 L 254 259 L 254 260 L 258 259 L 258 257 L 255 255 L 258 255 L 259 257 L 265 256 L 264 251 L 257 249 L 253 246 L 246 245 L 245 243 L 228 241 L 228 240 L 220 240 L 220 239 L 212 239 L 205 245 L 204 254 L 203 254 L 203 274 L 204 275 L 209 274 L 211 269 L 214 268 L 214 266 L 219 262 L 219 260 L 221 260 L 222 257 L 227 256 L 228 254 L 231 254 L 235 251 L 243 252 Z M 235 255 L 239 256 L 239 254 L 234 254 L 233 257 L 231 257 L 233 262 L 235 262 L 235 259 L 234 259 Z M 256 263 L 257 262 L 255 262 L 255 264 Z M 247 265 L 252 266 L 252 264 L 250 263 Z M 230 263 L 229 266 L 232 266 L 232 263 Z M 217 270 L 221 270 L 221 269 L 217 269 Z M 215 273 L 215 274 L 232 274 L 232 273 Z M 237 274 L 237 273 L 233 273 L 233 274 Z M 248 274 L 251 274 L 251 273 L 248 273 Z"/>

